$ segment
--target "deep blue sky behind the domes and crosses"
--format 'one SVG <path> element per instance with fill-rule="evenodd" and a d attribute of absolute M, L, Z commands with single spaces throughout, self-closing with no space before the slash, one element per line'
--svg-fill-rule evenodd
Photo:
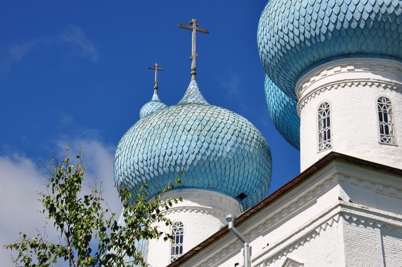
<path fill-rule="evenodd" d="M 35 210 L 26 205 L 28 196 L 45 183 L 35 171 L 36 159 L 46 161 L 49 151 L 63 155 L 66 142 L 72 150 L 86 151 L 88 175 L 105 181 L 105 191 L 115 194 L 114 149 L 152 97 L 154 73 L 148 66 L 158 62 L 165 68 L 159 73 L 165 104 L 176 104 L 187 88 L 191 36 L 177 25 L 192 18 L 210 30 L 197 35 L 202 94 L 210 104 L 244 116 L 264 135 L 273 157 L 269 192 L 292 179 L 299 172 L 299 153 L 278 134 L 265 104 L 256 43 L 265 4 L 1 2 L 0 193 L 6 204 L 0 208 L 17 217 L 20 209 Z M 16 203 L 16 194 L 27 196 L 26 202 Z M 0 232 L 21 229 L 15 227 L 0 225 Z"/>

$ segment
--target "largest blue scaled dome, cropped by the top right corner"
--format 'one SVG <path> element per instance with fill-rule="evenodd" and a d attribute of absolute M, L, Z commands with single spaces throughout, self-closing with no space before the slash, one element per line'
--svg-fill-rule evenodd
<path fill-rule="evenodd" d="M 334 57 L 402 58 L 400 0 L 270 0 L 258 25 L 258 50 L 269 77 L 296 99 L 309 67 Z"/>

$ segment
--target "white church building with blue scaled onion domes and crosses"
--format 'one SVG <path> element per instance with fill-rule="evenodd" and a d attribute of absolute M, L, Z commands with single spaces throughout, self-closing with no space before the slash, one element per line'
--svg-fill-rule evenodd
<path fill-rule="evenodd" d="M 272 158 L 247 119 L 191 80 L 178 104 L 155 91 L 115 156 L 117 187 L 165 197 L 174 241 L 142 240 L 159 266 L 402 266 L 402 2 L 270 0 L 257 42 L 277 130 L 300 174 L 265 197 Z M 290 179 L 290 177 L 288 177 Z M 229 227 L 228 227 L 229 222 Z M 140 245 L 139 245 L 140 246 Z"/>

